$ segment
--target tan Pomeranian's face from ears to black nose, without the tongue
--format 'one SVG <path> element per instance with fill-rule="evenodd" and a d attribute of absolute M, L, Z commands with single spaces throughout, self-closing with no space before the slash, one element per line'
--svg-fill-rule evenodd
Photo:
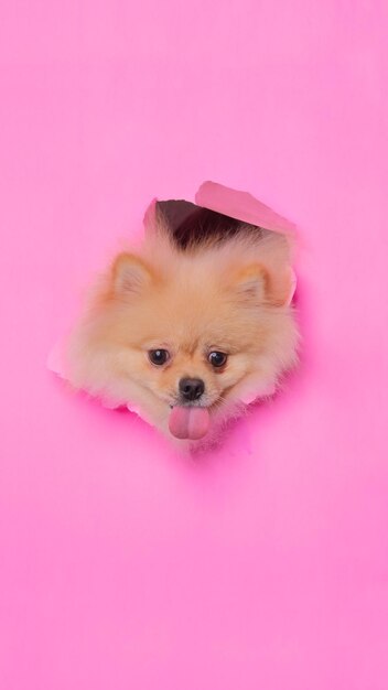
<path fill-rule="evenodd" d="M 169 406 L 217 407 L 268 341 L 267 274 L 183 265 L 160 274 L 133 255 L 112 270 L 111 327 L 128 377 Z"/>

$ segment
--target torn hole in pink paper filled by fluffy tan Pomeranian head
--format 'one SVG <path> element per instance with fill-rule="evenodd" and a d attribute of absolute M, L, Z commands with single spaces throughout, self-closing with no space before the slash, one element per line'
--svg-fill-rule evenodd
<path fill-rule="evenodd" d="M 147 225 L 95 285 L 66 378 L 203 444 L 297 363 L 290 240 L 187 202 L 154 203 Z"/>

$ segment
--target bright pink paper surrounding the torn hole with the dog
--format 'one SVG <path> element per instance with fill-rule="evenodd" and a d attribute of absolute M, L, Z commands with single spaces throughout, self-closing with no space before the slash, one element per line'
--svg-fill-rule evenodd
<path fill-rule="evenodd" d="M 387 4 L 0 10 L 3 690 L 386 690 Z M 152 196 L 297 222 L 300 375 L 212 456 L 45 369 Z"/>

